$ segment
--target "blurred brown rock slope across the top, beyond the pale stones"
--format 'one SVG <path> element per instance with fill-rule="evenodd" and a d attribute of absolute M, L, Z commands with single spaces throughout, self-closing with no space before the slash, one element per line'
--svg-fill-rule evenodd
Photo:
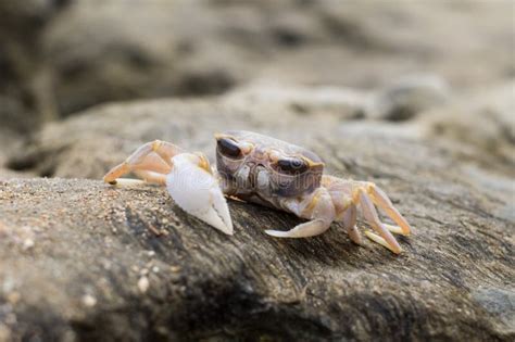
<path fill-rule="evenodd" d="M 263 79 L 374 89 L 423 71 L 460 89 L 488 85 L 515 69 L 511 10 L 506 2 L 2 1 L 0 123 L 33 131 L 98 103 L 217 94 Z"/>

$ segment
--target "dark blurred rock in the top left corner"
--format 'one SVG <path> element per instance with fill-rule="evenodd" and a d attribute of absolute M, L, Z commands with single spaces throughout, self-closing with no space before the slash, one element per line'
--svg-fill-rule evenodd
<path fill-rule="evenodd" d="M 66 0 L 0 2 L 0 125 L 16 132 L 55 117 L 41 36 Z"/>

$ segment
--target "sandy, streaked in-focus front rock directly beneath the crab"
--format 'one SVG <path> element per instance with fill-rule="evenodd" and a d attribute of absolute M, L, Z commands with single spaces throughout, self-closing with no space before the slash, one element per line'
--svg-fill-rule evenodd
<path fill-rule="evenodd" d="M 299 220 L 244 203 L 230 203 L 229 238 L 163 189 L 3 182 L 1 296 L 15 299 L 7 326 L 14 337 L 80 339 L 513 338 L 489 292 L 470 297 L 483 287 L 513 296 L 513 224 L 489 214 L 485 194 L 449 180 L 423 192 L 413 180 L 380 183 L 415 227 L 401 256 L 353 245 L 337 225 L 319 238 L 274 240 L 265 228 Z M 141 276 L 152 266 L 163 271 Z"/>

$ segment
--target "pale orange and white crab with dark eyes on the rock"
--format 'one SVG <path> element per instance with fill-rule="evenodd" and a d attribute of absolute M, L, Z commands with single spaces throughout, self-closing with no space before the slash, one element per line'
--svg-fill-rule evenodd
<path fill-rule="evenodd" d="M 324 175 L 324 163 L 304 148 L 260 134 L 231 130 L 216 134 L 216 167 L 200 153 L 190 153 L 161 140 L 147 142 L 103 180 L 113 186 L 165 186 L 184 211 L 233 235 L 227 198 L 292 213 L 306 221 L 288 231 L 265 230 L 276 238 L 307 238 L 343 224 L 350 239 L 363 244 L 356 227 L 357 207 L 373 230 L 372 241 L 399 254 L 392 233 L 409 236 L 406 219 L 375 183 Z M 121 178 L 133 173 L 140 179 Z M 381 208 L 397 225 L 379 219 Z"/>

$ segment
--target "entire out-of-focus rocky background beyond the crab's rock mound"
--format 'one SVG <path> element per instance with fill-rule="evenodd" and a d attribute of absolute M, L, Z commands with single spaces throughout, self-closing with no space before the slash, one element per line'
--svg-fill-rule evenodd
<path fill-rule="evenodd" d="M 45 125 L 98 104 L 250 91 L 300 112 L 336 103 L 350 121 L 412 121 L 457 99 L 466 110 L 440 111 L 431 132 L 480 136 L 511 166 L 514 11 L 508 0 L 2 0 L 0 164 L 34 169 L 49 148 L 24 153 L 45 144 Z M 467 106 L 487 92 L 500 98 Z"/>

